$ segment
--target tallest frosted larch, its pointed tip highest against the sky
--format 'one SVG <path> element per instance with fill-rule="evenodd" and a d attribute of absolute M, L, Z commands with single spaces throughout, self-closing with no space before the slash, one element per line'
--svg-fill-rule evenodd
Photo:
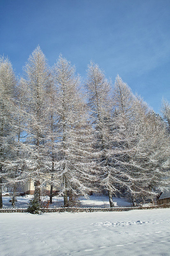
<path fill-rule="evenodd" d="M 22 83 L 27 88 L 25 102 L 25 141 L 22 141 L 26 151 L 28 172 L 23 172 L 21 179 L 32 179 L 35 184 L 34 196 L 40 199 L 40 187 L 47 181 L 48 152 L 46 134 L 48 133 L 48 88 L 51 83 L 51 74 L 47 59 L 40 46 L 32 52 L 24 67 L 25 79 Z M 24 175 L 26 177 L 24 178 Z"/>

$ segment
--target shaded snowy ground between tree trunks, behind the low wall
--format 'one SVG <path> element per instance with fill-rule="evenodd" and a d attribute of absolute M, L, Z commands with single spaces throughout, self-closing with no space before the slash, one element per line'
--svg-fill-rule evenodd
<path fill-rule="evenodd" d="M 17 202 L 15 203 L 15 208 L 27 208 L 28 202 L 33 196 L 17 196 Z M 11 203 L 9 200 L 10 196 L 3 196 L 3 208 L 11 208 Z M 49 200 L 49 196 L 43 197 L 43 201 Z M 80 207 L 110 207 L 108 196 L 89 196 L 88 199 L 84 197 L 79 198 Z M 130 206 L 130 203 L 126 202 L 123 198 L 113 197 L 115 206 Z M 53 204 L 49 207 L 61 207 L 64 204 L 63 197 L 53 197 Z"/>

